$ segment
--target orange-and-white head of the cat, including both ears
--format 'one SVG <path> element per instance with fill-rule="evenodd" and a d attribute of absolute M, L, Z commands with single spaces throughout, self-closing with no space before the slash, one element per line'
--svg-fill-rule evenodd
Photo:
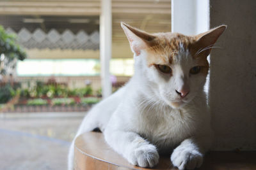
<path fill-rule="evenodd" d="M 203 91 L 209 70 L 207 56 L 227 27 L 221 25 L 196 36 L 185 36 L 171 32 L 148 34 L 121 25 L 134 53 L 135 74 L 172 108 L 184 106 Z"/>

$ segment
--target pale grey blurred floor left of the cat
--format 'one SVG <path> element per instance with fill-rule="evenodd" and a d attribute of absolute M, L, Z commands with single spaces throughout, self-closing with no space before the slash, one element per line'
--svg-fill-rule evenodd
<path fill-rule="evenodd" d="M 0 113 L 0 169 L 67 169 L 85 113 Z"/>

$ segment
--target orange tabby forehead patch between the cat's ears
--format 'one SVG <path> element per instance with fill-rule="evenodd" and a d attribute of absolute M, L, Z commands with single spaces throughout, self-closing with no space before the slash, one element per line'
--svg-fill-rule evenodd
<path fill-rule="evenodd" d="M 154 45 L 150 46 L 148 52 L 152 54 L 149 62 L 157 64 L 170 63 L 179 60 L 180 57 L 189 53 L 189 50 L 195 38 L 193 36 L 185 36 L 179 33 L 156 33 L 154 34 Z"/>

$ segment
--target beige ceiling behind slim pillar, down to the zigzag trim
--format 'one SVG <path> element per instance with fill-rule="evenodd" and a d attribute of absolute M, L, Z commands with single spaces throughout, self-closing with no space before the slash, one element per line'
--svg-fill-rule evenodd
<path fill-rule="evenodd" d="M 45 32 L 83 29 L 99 31 L 100 0 L 1 0 L 0 24 L 26 25 Z M 32 19 L 32 20 L 31 20 Z M 41 19 L 41 20 L 40 20 Z M 128 46 L 120 22 L 148 32 L 171 31 L 171 0 L 112 0 L 113 45 Z"/>

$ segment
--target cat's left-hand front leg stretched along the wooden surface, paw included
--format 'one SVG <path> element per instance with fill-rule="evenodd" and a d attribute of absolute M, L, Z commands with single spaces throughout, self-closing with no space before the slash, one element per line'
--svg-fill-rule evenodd
<path fill-rule="evenodd" d="M 135 132 L 106 129 L 104 137 L 109 146 L 133 165 L 154 167 L 158 163 L 159 155 L 156 146 Z"/>

